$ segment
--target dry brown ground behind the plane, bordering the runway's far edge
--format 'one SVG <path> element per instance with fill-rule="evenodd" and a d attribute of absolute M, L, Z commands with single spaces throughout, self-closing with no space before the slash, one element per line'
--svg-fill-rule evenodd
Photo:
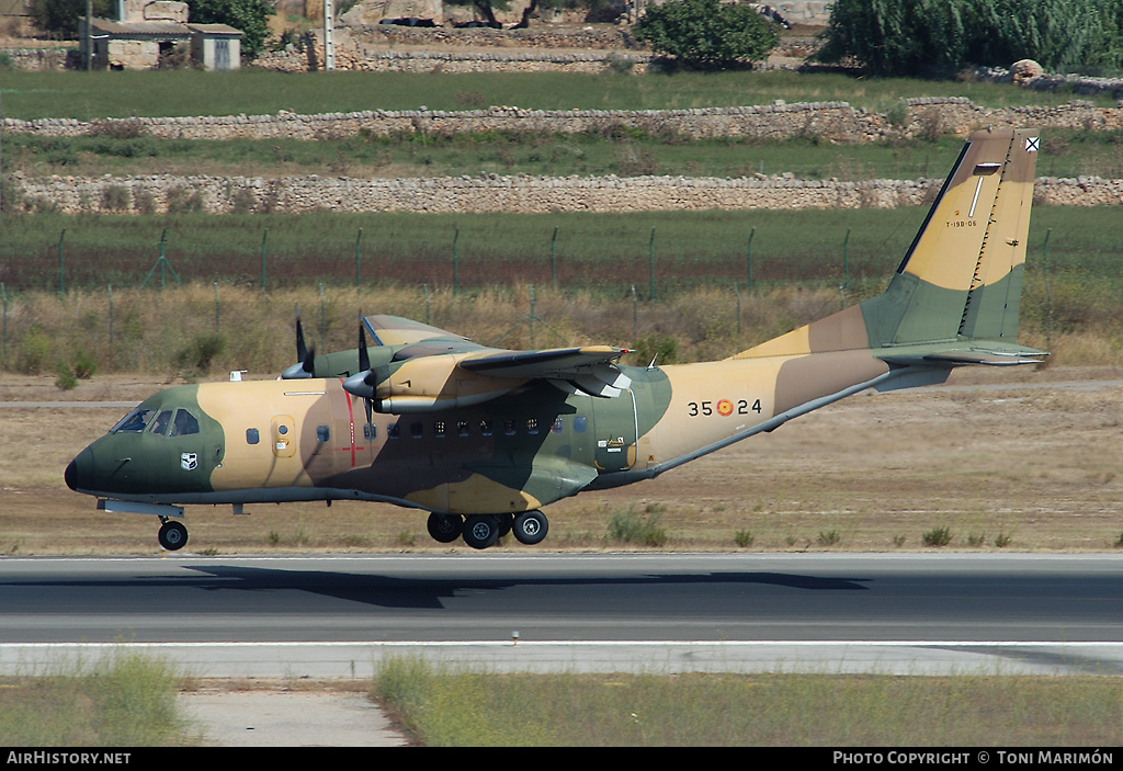
<path fill-rule="evenodd" d="M 164 385 L 97 376 L 63 392 L 52 377 L 0 377 L 0 554 L 158 553 L 154 517 L 98 512 L 63 469 Z M 949 549 L 1111 551 L 1123 538 L 1121 463 L 1123 373 L 960 370 L 950 386 L 859 394 L 658 479 L 559 502 L 542 544 L 497 548 L 650 548 L 605 539 L 631 510 L 667 550 L 922 550 L 946 527 Z M 189 506 L 186 552 L 468 551 L 389 505 L 246 511 Z"/>

